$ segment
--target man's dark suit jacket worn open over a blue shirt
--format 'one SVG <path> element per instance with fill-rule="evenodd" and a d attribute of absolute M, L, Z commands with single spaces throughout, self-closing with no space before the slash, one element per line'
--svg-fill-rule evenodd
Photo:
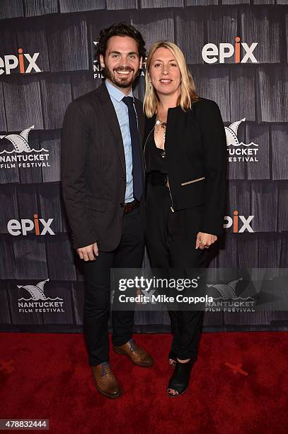
<path fill-rule="evenodd" d="M 135 108 L 142 143 L 142 102 L 135 99 Z M 121 130 L 105 83 L 69 104 L 62 127 L 61 162 L 74 248 L 97 242 L 100 250 L 114 250 L 122 235 L 126 168 Z M 144 198 L 140 209 L 143 215 Z"/>

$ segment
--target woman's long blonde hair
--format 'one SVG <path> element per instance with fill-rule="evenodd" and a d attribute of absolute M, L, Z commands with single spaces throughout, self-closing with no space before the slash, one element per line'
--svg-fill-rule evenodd
<path fill-rule="evenodd" d="M 162 47 L 168 48 L 168 50 L 170 50 L 173 53 L 175 59 L 178 62 L 178 66 L 180 69 L 181 84 L 180 84 L 180 96 L 178 99 L 178 106 L 180 105 L 181 108 L 184 111 L 186 111 L 188 109 L 191 109 L 192 103 L 199 99 L 199 96 L 197 95 L 195 90 L 194 79 L 190 74 L 183 52 L 174 43 L 171 43 L 168 40 L 159 40 L 151 46 L 146 60 L 146 74 L 145 74 L 146 90 L 144 96 L 144 113 L 148 118 L 151 118 L 159 107 L 159 96 L 157 95 L 154 86 L 150 82 L 149 69 L 150 69 L 151 59 L 154 55 L 154 52 L 158 50 L 158 48 L 162 48 Z"/>

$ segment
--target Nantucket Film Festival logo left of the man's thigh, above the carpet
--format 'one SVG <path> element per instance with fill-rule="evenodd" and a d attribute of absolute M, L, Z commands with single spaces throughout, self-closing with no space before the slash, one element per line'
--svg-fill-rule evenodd
<path fill-rule="evenodd" d="M 18 311 L 21 313 L 46 313 L 46 312 L 64 312 L 64 300 L 60 297 L 47 297 L 44 292 L 44 286 L 49 279 L 38 282 L 36 285 L 17 285 L 22 289 L 24 296 L 18 299 Z M 28 298 L 25 298 L 28 296 Z"/>

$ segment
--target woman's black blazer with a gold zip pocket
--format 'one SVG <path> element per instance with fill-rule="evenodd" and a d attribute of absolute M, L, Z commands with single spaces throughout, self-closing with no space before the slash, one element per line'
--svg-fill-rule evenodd
<path fill-rule="evenodd" d="M 145 120 L 146 141 L 156 115 Z M 201 232 L 221 235 L 226 211 L 226 135 L 219 107 L 200 99 L 192 108 L 168 109 L 166 161 L 174 211 L 203 205 Z"/>

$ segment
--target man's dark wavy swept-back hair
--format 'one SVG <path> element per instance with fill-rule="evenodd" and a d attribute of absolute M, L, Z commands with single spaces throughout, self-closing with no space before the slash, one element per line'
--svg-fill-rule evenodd
<path fill-rule="evenodd" d="M 129 36 L 129 38 L 133 38 L 134 40 L 136 40 L 138 45 L 139 57 L 142 57 L 143 60 L 145 59 L 146 48 L 142 34 L 136 28 L 134 28 L 134 26 L 131 26 L 131 24 L 116 23 L 108 28 L 103 28 L 102 30 L 100 30 L 96 45 L 96 57 L 98 58 L 98 60 L 100 55 L 103 55 L 103 57 L 105 57 L 108 40 L 112 36 Z"/>

